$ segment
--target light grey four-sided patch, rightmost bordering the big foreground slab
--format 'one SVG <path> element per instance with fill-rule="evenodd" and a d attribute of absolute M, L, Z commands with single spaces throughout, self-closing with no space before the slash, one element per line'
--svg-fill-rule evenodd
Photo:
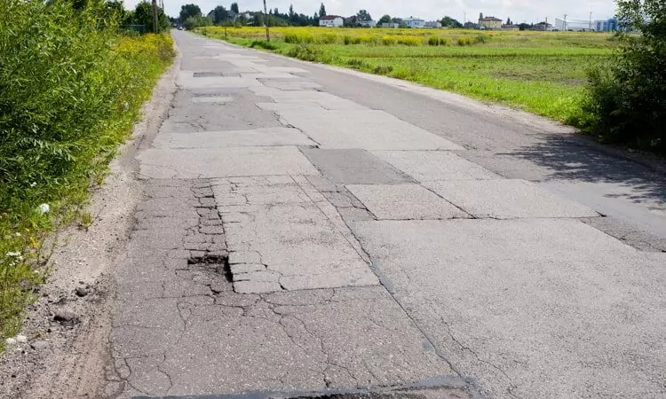
<path fill-rule="evenodd" d="M 459 180 L 424 185 L 474 217 L 599 216 L 589 207 L 559 198 L 524 180 Z"/>

